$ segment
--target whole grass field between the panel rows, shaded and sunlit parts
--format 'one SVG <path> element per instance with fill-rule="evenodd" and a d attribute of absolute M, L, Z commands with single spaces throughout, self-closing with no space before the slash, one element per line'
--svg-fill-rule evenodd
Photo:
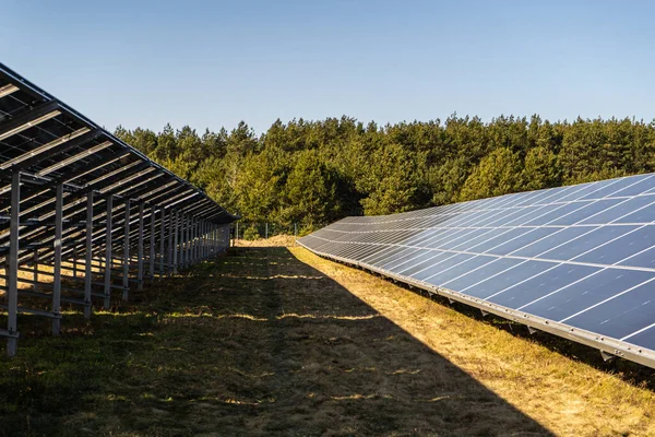
<path fill-rule="evenodd" d="M 2 435 L 654 435 L 653 374 L 298 247 L 238 247 L 112 312 L 23 316 Z"/>

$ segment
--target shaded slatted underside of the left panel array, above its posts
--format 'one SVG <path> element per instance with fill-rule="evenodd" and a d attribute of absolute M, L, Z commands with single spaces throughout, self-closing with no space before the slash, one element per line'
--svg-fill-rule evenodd
<path fill-rule="evenodd" d="M 15 170 L 24 186 L 22 220 L 50 217 L 52 188 L 60 182 L 69 202 L 93 190 L 99 198 L 175 206 L 212 223 L 235 220 L 184 179 L 0 63 L 0 215 L 9 213 Z M 8 225 L 0 226 L 2 245 Z"/>

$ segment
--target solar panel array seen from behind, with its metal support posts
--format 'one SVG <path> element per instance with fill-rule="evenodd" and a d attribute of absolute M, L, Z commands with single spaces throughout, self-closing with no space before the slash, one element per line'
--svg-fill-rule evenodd
<path fill-rule="evenodd" d="M 236 218 L 0 63 L 0 336 L 10 355 L 17 314 L 51 318 L 58 334 L 62 303 L 86 316 L 94 298 L 109 308 L 112 291 L 124 299 L 131 284 L 224 250 Z"/>

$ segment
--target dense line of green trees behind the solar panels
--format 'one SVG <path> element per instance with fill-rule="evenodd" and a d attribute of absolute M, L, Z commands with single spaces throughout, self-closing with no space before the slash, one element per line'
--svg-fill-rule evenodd
<path fill-rule="evenodd" d="M 307 227 L 655 170 L 655 122 L 633 119 L 451 116 L 380 127 L 342 117 L 277 120 L 259 137 L 245 122 L 116 135 L 247 221 Z"/>

